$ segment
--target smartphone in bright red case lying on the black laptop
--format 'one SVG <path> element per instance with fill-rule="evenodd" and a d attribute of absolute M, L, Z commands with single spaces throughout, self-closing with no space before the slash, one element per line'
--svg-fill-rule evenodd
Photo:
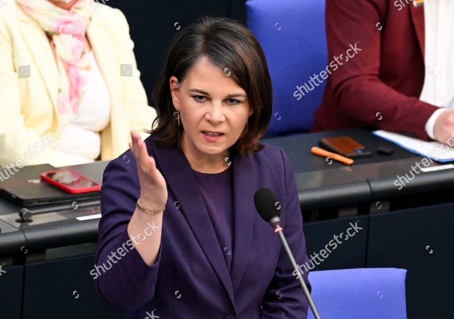
<path fill-rule="evenodd" d="M 42 172 L 41 179 L 71 194 L 87 193 L 101 189 L 99 183 L 70 170 Z"/>

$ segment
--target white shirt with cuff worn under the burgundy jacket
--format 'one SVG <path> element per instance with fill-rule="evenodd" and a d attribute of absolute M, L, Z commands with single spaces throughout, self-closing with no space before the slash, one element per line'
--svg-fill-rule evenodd
<path fill-rule="evenodd" d="M 424 1 L 424 64 L 426 75 L 419 99 L 439 106 L 425 125 L 430 138 L 440 113 L 454 109 L 454 1 Z"/>

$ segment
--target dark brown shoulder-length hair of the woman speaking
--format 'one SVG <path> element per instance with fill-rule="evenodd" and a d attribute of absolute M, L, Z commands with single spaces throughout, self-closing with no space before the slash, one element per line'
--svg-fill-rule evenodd
<path fill-rule="evenodd" d="M 153 90 L 153 102 L 158 116 L 149 134 L 166 128 L 153 142 L 161 147 L 178 142 L 181 149 L 183 126 L 178 126 L 177 110 L 173 106 L 170 78 L 183 82 L 188 71 L 206 57 L 223 72 L 228 68 L 232 79 L 246 91 L 253 109 L 243 130 L 233 145 L 237 152 L 249 156 L 263 149 L 259 141 L 266 131 L 272 114 L 272 87 L 265 54 L 256 37 L 245 26 L 227 18 L 203 17 L 180 31 L 170 46 L 163 72 Z M 156 128 L 153 128 L 155 124 Z"/>

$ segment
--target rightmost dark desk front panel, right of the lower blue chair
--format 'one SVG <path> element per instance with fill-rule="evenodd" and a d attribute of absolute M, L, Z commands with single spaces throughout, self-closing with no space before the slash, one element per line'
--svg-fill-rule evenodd
<path fill-rule="evenodd" d="M 367 267 L 407 271 L 408 319 L 453 318 L 454 203 L 370 216 Z"/>

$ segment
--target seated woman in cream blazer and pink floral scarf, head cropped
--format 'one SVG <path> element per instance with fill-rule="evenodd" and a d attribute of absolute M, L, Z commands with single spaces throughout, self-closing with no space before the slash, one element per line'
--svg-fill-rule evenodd
<path fill-rule="evenodd" d="M 59 167 L 110 160 L 126 151 L 130 131 L 150 129 L 156 118 L 133 47 L 123 13 L 107 5 L 93 7 L 89 0 L 5 5 L 0 166 Z"/>

